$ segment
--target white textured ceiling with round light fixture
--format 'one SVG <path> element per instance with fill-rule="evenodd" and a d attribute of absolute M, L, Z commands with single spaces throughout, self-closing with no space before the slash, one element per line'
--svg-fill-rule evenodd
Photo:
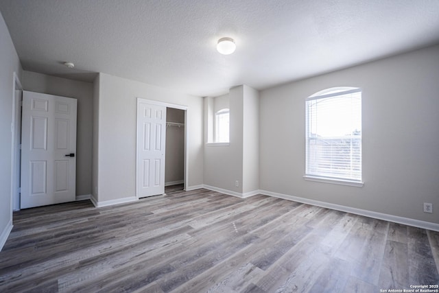
<path fill-rule="evenodd" d="M 0 0 L 0 11 L 27 71 L 104 72 L 200 96 L 439 43 L 438 0 Z M 232 55 L 215 50 L 224 36 Z"/>

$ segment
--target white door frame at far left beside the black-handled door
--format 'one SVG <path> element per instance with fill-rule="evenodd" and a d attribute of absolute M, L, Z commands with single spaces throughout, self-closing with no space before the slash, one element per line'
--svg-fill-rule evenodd
<path fill-rule="evenodd" d="M 21 139 L 21 101 L 23 101 L 23 86 L 19 80 L 19 76 L 14 72 L 12 78 L 12 153 L 11 153 L 11 211 L 20 210 L 20 180 L 21 172 L 17 172 L 17 169 L 21 166 L 21 150 L 18 137 Z M 16 92 L 21 91 L 21 99 L 18 99 Z M 20 122 L 19 127 L 17 122 Z M 19 156 L 19 157 L 17 157 Z"/>

